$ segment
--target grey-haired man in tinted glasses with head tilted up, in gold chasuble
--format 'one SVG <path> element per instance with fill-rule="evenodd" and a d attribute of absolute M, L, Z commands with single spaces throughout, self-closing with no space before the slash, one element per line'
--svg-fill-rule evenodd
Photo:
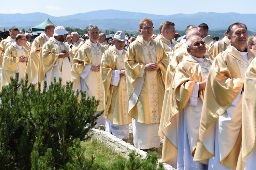
<path fill-rule="evenodd" d="M 201 37 L 190 37 L 186 47 L 189 55 L 184 56 L 183 62 L 176 67 L 171 82 L 166 106 L 166 115 L 170 116 L 161 119 L 161 122 L 171 122 L 166 133 L 171 136 L 172 148 L 176 149 L 163 149 L 163 154 L 169 154 L 171 158 L 177 156 L 177 162 L 171 162 L 177 169 L 204 169 L 203 164 L 193 161 L 192 153 L 198 142 L 204 89 L 211 60 L 204 57 L 206 48 Z"/>

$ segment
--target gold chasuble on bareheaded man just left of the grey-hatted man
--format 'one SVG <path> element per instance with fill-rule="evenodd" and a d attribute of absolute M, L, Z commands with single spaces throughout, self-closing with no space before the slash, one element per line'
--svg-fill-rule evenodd
<path fill-rule="evenodd" d="M 99 42 L 97 47 L 94 47 L 89 40 L 79 48 L 77 51 L 71 71 L 71 81 L 74 82 L 74 90 L 84 90 L 86 91 L 86 96 L 92 98 L 95 96 L 96 100 L 100 100 L 100 104 L 97 107 L 97 112 L 100 112 L 104 109 L 104 87 L 100 75 L 100 71 L 88 70 L 85 73 L 85 77 L 80 77 L 83 71 L 86 71 L 87 66 L 96 66 L 100 65 L 101 57 L 105 51 L 105 47 Z M 84 79 L 84 85 L 81 86 L 81 79 Z"/>

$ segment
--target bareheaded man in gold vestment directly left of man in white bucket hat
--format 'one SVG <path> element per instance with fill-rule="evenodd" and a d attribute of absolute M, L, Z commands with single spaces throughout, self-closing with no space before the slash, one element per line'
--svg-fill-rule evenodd
<path fill-rule="evenodd" d="M 47 24 L 44 28 L 44 33 L 36 37 L 32 43 L 28 65 L 25 74 L 28 73 L 28 83 L 37 84 L 38 63 L 41 48 L 53 36 L 55 26 Z"/>

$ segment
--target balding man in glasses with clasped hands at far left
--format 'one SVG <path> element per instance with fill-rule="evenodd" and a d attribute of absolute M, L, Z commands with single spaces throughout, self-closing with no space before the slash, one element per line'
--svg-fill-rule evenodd
<path fill-rule="evenodd" d="M 1 87 L 9 85 L 11 77 L 15 77 L 15 72 L 19 72 L 19 80 L 24 78 L 26 62 L 28 61 L 29 52 L 24 47 L 26 44 L 26 36 L 18 34 L 15 43 L 12 43 L 5 52 L 2 67 Z"/>

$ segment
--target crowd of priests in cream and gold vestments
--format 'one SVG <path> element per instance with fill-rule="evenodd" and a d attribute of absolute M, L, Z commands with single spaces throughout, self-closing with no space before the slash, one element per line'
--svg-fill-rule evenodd
<path fill-rule="evenodd" d="M 41 89 L 38 82 L 48 87 L 61 77 L 100 100 L 95 128 L 127 139 L 132 123 L 134 147 L 142 150 L 159 147 L 160 136 L 162 162 L 174 168 L 253 169 L 256 36 L 239 22 L 218 41 L 205 23 L 187 26 L 180 42 L 173 22 L 162 22 L 156 38 L 153 30 L 144 18 L 137 37 L 117 31 L 107 42 L 92 24 L 82 38 L 47 24 L 31 43 L 11 27 L 0 43 L 0 90 L 16 71 Z"/>

